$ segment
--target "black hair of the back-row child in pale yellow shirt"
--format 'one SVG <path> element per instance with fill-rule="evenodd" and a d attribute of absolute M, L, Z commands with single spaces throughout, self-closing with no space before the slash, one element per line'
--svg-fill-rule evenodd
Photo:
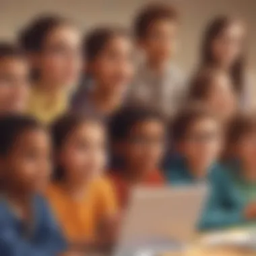
<path fill-rule="evenodd" d="M 42 15 L 22 31 L 19 38 L 20 45 L 28 53 L 41 51 L 49 33 L 63 24 L 70 22 L 59 15 Z"/>

